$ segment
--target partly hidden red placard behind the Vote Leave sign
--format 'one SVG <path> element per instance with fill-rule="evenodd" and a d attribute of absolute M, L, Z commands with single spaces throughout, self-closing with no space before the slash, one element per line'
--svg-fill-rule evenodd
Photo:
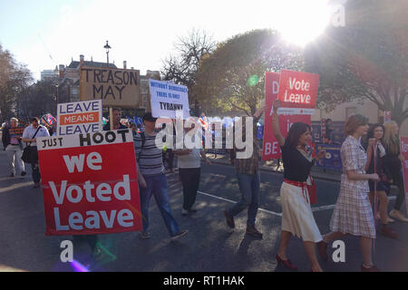
<path fill-rule="evenodd" d="M 279 79 L 280 73 L 267 73 L 265 79 L 265 96 L 267 113 L 265 114 L 265 129 L 264 129 L 264 150 L 262 152 L 262 160 L 277 160 L 281 158 L 282 152 L 280 150 L 279 143 L 275 138 L 275 133 L 272 130 L 272 115 L 273 115 L 273 103 L 277 100 L 279 93 Z M 279 116 L 279 128 L 287 137 L 287 133 L 290 127 L 298 121 L 305 122 L 306 124 L 312 123 L 312 117 L 310 115 L 278 115 Z"/>

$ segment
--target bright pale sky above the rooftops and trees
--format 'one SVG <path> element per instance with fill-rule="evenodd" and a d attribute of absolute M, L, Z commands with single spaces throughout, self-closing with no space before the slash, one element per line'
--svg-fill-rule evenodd
<path fill-rule="evenodd" d="M 327 24 L 328 0 L 0 0 L 0 43 L 39 79 L 43 70 L 85 60 L 160 70 L 191 29 L 215 41 L 276 28 L 287 39 L 313 38 Z M 305 32 L 306 29 L 306 32 Z M 312 34 L 311 34 L 312 33 Z M 310 35 L 309 35 L 310 34 Z"/>

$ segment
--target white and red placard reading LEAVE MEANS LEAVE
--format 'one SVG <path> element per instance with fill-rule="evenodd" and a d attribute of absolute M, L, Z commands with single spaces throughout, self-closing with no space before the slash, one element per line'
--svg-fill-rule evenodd
<path fill-rule="evenodd" d="M 58 104 L 57 136 L 102 131 L 102 100 Z"/>

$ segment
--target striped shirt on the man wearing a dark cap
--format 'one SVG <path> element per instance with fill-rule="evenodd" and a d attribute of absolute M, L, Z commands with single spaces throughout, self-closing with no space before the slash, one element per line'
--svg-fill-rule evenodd
<path fill-rule="evenodd" d="M 156 134 L 149 135 L 144 133 L 146 140 L 141 148 L 141 135 L 135 134 L 133 137 L 134 150 L 138 170 L 141 170 L 143 176 L 154 176 L 164 172 L 163 150 L 156 146 Z"/>

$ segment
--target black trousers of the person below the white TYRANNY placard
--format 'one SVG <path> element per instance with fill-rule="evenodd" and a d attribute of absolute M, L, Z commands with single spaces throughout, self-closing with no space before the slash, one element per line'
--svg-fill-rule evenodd
<path fill-rule="evenodd" d="M 180 180 L 183 185 L 183 208 L 190 210 L 197 198 L 199 190 L 199 179 L 201 177 L 201 168 L 198 169 L 179 169 Z"/>

